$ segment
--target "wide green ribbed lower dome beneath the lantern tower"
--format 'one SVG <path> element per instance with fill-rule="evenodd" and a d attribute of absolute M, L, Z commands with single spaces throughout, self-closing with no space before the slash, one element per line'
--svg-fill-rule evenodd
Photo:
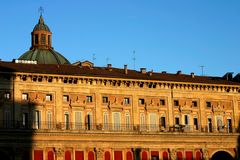
<path fill-rule="evenodd" d="M 37 61 L 38 64 L 70 64 L 65 57 L 53 49 L 31 49 L 18 59 Z"/>

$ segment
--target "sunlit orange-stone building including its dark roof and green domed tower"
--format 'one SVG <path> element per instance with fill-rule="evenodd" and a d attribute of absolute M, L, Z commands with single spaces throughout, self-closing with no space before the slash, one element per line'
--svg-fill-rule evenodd
<path fill-rule="evenodd" d="M 240 75 L 70 64 L 42 16 L 29 51 L 0 62 L 6 160 L 237 159 Z"/>

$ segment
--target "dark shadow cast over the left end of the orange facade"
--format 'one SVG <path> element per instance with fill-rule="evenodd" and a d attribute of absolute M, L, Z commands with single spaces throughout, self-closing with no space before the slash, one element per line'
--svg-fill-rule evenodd
<path fill-rule="evenodd" d="M 31 160 L 35 104 L 16 100 L 14 71 L 0 66 L 0 159 Z M 19 97 L 18 97 L 19 99 Z"/>

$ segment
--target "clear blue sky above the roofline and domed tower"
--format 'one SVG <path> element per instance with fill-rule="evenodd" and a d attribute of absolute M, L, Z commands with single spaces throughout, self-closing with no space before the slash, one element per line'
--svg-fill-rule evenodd
<path fill-rule="evenodd" d="M 44 8 L 53 47 L 72 63 L 222 76 L 240 72 L 238 0 L 3 0 L 0 58 L 11 61 L 31 45 Z M 108 59 L 108 60 L 107 60 Z"/>

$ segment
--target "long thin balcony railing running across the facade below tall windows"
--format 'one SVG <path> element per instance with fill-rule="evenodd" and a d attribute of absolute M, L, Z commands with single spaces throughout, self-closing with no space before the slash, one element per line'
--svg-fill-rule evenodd
<path fill-rule="evenodd" d="M 174 125 L 174 126 L 159 126 L 155 124 L 146 125 L 130 125 L 130 124 L 89 124 L 89 123 L 51 123 L 45 121 L 32 121 L 32 122 L 20 122 L 20 121 L 0 121 L 0 129 L 23 129 L 23 130 L 73 130 L 73 131 L 110 131 L 110 132 L 199 132 L 199 133 L 240 133 L 239 129 L 232 127 L 211 127 L 208 126 L 196 126 L 196 125 Z"/>

